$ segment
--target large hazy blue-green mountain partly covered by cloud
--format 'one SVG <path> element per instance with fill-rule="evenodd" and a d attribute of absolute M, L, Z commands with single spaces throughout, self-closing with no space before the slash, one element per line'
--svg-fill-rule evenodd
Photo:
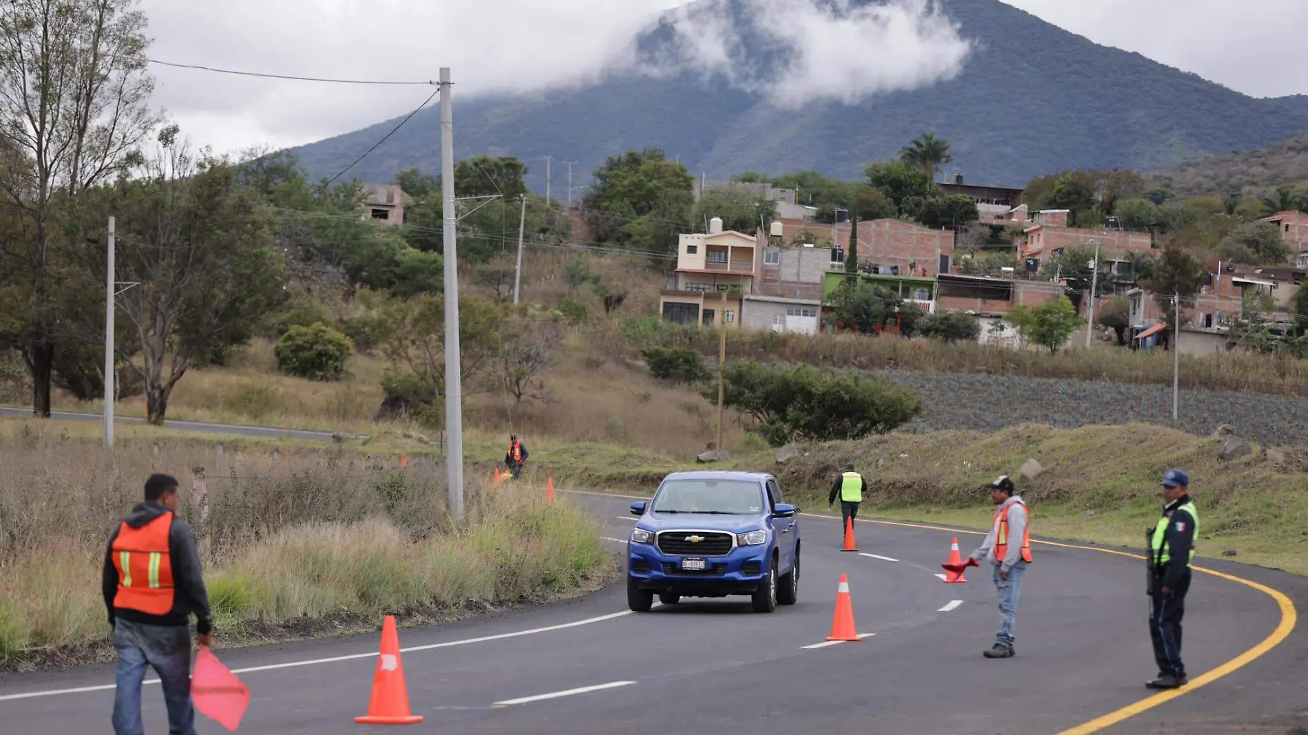
<path fill-rule="evenodd" d="M 760 1 L 766 0 L 700 0 L 691 12 L 730 30 L 739 39 L 736 52 L 765 76 L 785 63 L 786 52 L 752 21 Z M 1020 187 L 1063 169 L 1152 171 L 1308 133 L 1308 97 L 1256 99 L 1139 54 L 1097 46 L 998 0 L 940 0 L 940 8 L 974 41 L 961 72 L 947 81 L 853 105 L 811 102 L 799 109 L 689 71 L 617 73 L 594 85 L 534 94 L 456 94 L 455 154 L 517 156 L 531 166 L 528 183 L 540 192 L 542 157 L 553 156 L 553 194 L 564 197 L 560 161 L 578 161 L 573 175 L 579 184 L 604 157 L 630 148 L 663 148 L 710 178 L 802 169 L 857 178 L 867 161 L 892 157 L 910 139 L 934 131 L 952 144 L 955 162 L 946 174 Z M 684 55 L 668 18 L 653 20 L 633 39 L 642 59 Z M 330 175 L 395 122 L 296 153 L 311 174 Z M 415 115 L 352 175 L 383 182 L 415 166 L 439 170 L 434 106 Z"/>

